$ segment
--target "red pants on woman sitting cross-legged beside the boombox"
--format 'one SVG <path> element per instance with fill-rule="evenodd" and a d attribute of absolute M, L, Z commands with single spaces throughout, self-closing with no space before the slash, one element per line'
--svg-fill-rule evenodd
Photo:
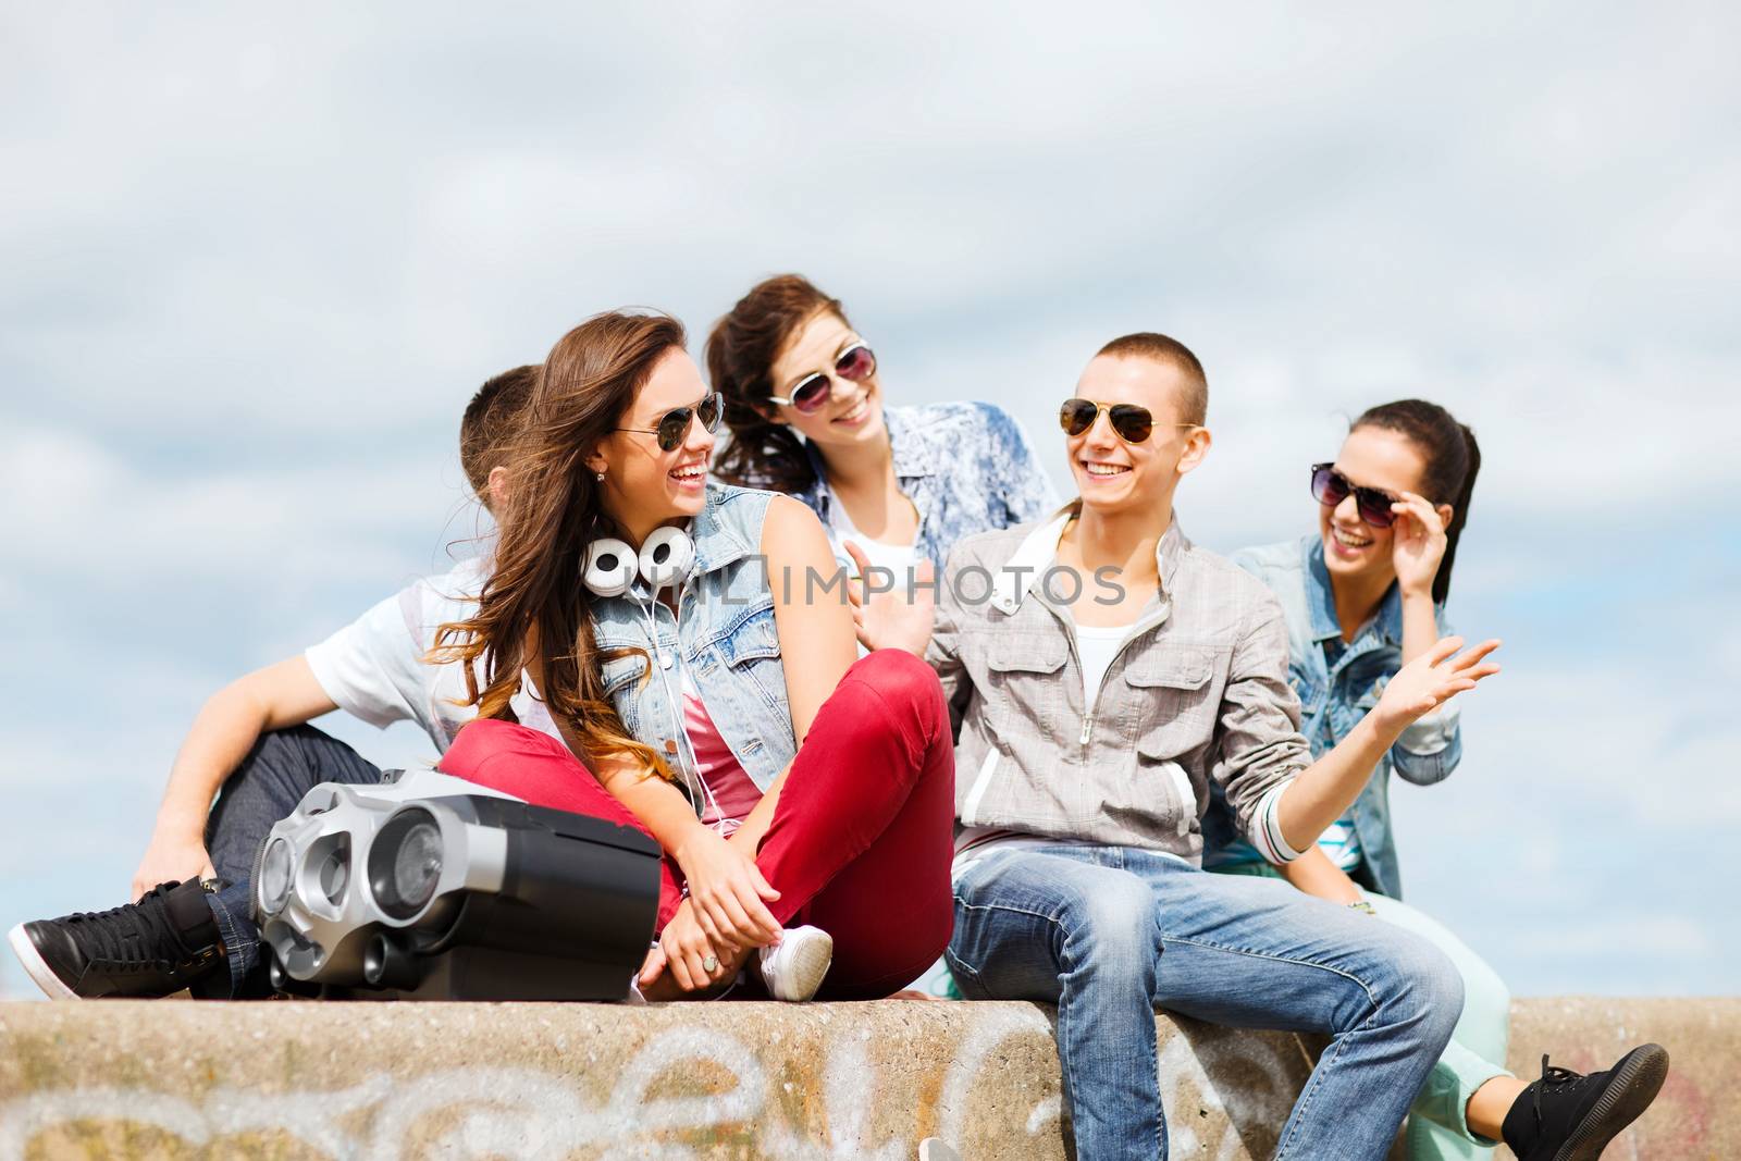
<path fill-rule="evenodd" d="M 440 769 L 536 806 L 646 832 L 555 738 L 474 721 Z M 937 675 L 900 649 L 860 658 L 817 714 L 792 761 L 756 865 L 785 926 L 834 936 L 818 997 L 874 999 L 942 954 L 954 923 L 954 748 Z M 682 872 L 665 858 L 658 926 L 681 902 Z"/>

